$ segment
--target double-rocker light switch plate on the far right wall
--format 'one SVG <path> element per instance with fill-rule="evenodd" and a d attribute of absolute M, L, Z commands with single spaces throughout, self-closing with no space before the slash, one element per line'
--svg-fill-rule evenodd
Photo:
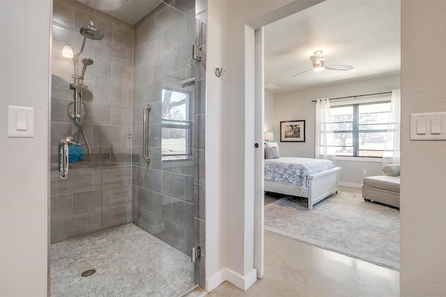
<path fill-rule="evenodd" d="M 446 141 L 446 112 L 410 114 L 411 141 Z"/>

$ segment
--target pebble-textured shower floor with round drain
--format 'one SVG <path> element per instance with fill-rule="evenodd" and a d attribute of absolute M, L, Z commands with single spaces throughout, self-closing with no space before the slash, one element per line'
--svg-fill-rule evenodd
<path fill-rule="evenodd" d="M 133 224 L 51 245 L 51 296 L 182 296 L 193 280 L 190 257 Z"/>

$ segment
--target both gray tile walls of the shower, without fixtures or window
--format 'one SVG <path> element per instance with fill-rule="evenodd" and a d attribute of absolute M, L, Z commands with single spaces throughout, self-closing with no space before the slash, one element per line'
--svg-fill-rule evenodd
<path fill-rule="evenodd" d="M 201 45 L 206 54 L 207 2 L 164 2 L 133 25 L 74 0 L 54 0 L 54 23 L 61 26 L 53 26 L 52 242 L 132 222 L 186 254 L 199 244 L 204 287 L 206 57 L 191 73 L 190 53 L 192 45 Z M 79 28 L 90 20 L 105 35 L 87 40 L 79 59 L 94 59 L 84 80 L 89 88 L 83 125 L 92 154 L 88 162 L 70 163 L 62 180 L 57 144 L 77 129 L 70 118 L 72 61 L 61 56 L 63 44 L 56 40 L 79 51 Z M 178 81 L 192 75 L 197 81 L 185 90 L 193 93 L 193 159 L 163 162 L 162 88 L 180 88 Z M 142 110 L 148 103 L 150 164 L 142 154 Z"/>

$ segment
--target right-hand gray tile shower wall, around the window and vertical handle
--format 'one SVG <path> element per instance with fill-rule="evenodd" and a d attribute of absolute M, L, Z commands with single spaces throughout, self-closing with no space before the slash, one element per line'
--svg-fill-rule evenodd
<path fill-rule="evenodd" d="M 167 1 L 134 26 L 133 97 L 133 222 L 154 236 L 190 255 L 200 244 L 204 254 L 204 149 L 206 95 L 205 58 L 191 70 L 192 45 L 206 38 L 206 1 Z M 174 7 L 177 9 L 174 9 Z M 178 11 L 180 10 L 180 11 Z M 197 19 L 195 19 L 197 17 Z M 179 81 L 195 77 L 192 86 Z M 162 161 L 162 89 L 193 94 L 193 158 Z M 151 104 L 148 154 L 142 152 L 143 111 Z M 204 287 L 204 255 L 200 285 Z"/>

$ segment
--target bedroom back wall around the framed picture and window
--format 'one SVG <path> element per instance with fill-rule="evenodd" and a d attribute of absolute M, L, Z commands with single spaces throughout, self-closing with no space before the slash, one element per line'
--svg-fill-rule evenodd
<path fill-rule="evenodd" d="M 392 75 L 289 93 L 275 93 L 273 127 L 275 139 L 279 144 L 280 155 L 314 158 L 316 105 L 312 100 L 323 97 L 334 98 L 383 93 L 397 88 L 400 88 L 400 76 Z M 279 124 L 280 121 L 284 120 L 305 120 L 305 143 L 280 142 Z M 340 184 L 344 186 L 362 186 L 364 177 L 383 174 L 381 162 L 380 160 L 375 162 L 335 161 L 335 165 L 342 168 L 339 173 Z M 362 174 L 363 169 L 367 170 L 367 175 Z"/>

